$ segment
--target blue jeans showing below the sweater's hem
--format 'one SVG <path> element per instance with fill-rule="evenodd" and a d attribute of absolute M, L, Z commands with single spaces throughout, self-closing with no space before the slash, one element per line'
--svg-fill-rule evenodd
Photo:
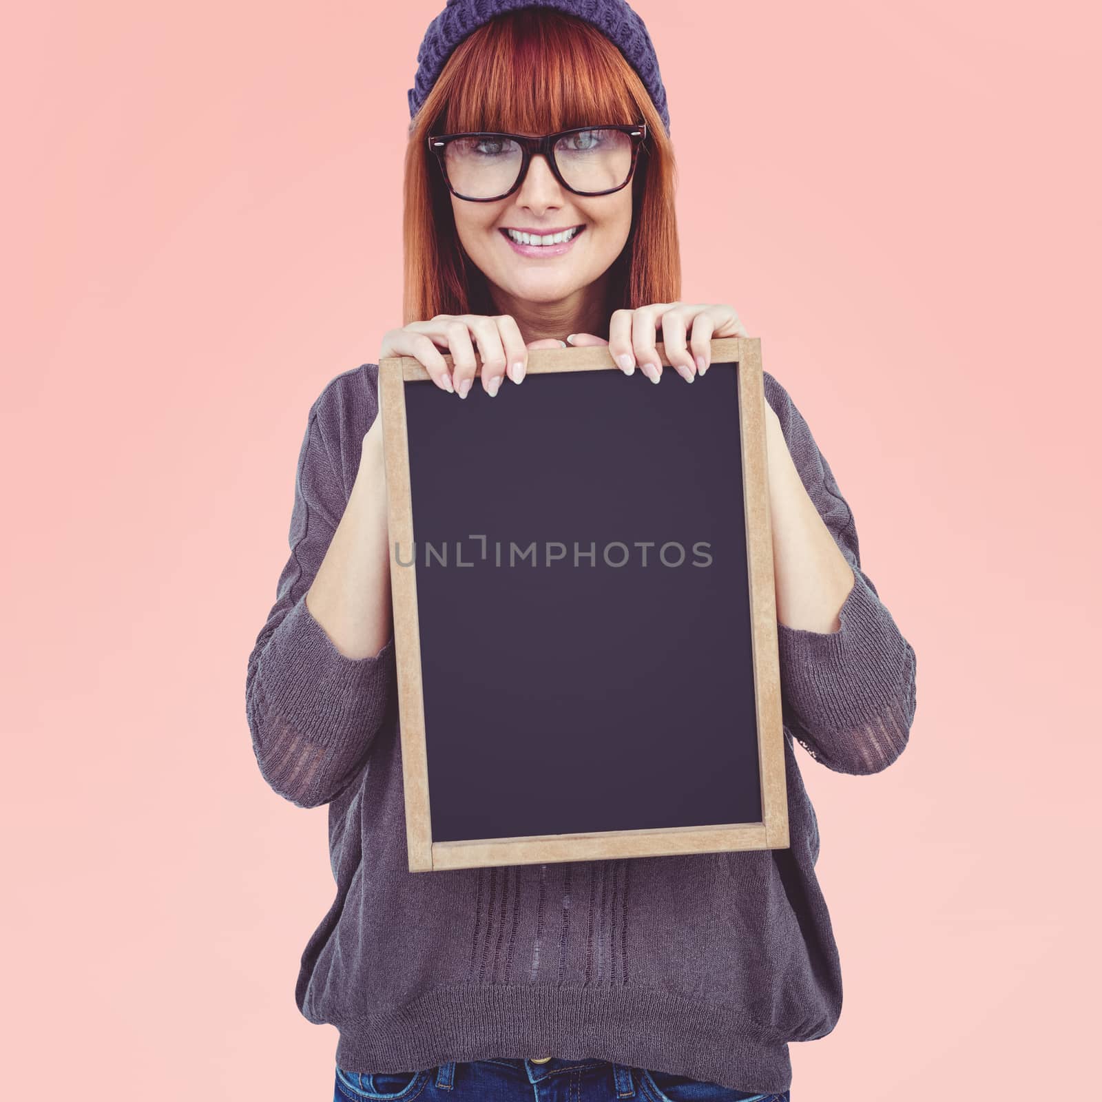
<path fill-rule="evenodd" d="M 608 1060 L 451 1061 L 422 1071 L 337 1069 L 333 1102 L 790 1102 L 789 1092 L 754 1094 Z"/>

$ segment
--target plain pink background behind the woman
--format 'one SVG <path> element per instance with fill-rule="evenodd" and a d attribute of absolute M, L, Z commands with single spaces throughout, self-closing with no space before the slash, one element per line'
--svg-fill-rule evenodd
<path fill-rule="evenodd" d="M 331 1091 L 336 1033 L 293 1002 L 326 812 L 262 781 L 245 669 L 310 403 L 401 324 L 406 89 L 441 7 L 9 17 L 12 1098 Z M 795 1102 L 1091 1090 L 1090 7 L 636 3 L 683 298 L 761 338 L 918 653 L 894 767 L 800 755 L 845 1006 L 792 1047 Z"/>

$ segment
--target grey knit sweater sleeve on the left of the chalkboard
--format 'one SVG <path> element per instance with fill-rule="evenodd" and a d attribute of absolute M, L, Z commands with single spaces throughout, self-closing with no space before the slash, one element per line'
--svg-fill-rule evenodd
<path fill-rule="evenodd" d="M 246 677 L 261 776 L 302 808 L 327 803 L 357 774 L 382 725 L 395 676 L 393 634 L 377 655 L 347 658 L 306 606 L 306 591 L 347 504 L 323 434 L 335 420 L 325 412 L 332 389 L 310 411 L 295 474 L 290 557 Z"/>

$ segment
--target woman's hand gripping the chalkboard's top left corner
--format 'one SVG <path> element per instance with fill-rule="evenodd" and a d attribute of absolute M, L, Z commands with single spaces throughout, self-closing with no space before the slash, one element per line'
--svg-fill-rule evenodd
<path fill-rule="evenodd" d="M 431 321 L 411 322 L 386 333 L 379 359 L 412 356 L 441 390 L 466 398 L 475 377 L 475 345 L 482 359 L 483 389 L 490 398 L 506 374 L 514 382 L 525 377 L 529 348 L 565 347 L 561 341 L 533 341 L 526 345 L 520 327 L 509 314 L 436 314 Z M 452 356 L 451 375 L 441 349 Z"/>

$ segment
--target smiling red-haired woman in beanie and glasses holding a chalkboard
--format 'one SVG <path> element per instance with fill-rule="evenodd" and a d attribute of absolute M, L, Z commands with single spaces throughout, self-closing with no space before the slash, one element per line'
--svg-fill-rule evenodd
<path fill-rule="evenodd" d="M 660 331 L 681 386 L 712 337 L 745 335 L 730 306 L 678 302 L 666 94 L 627 4 L 453 0 L 419 62 L 407 324 L 380 359 L 417 357 L 463 400 L 523 386 L 530 348 L 607 342 L 657 383 Z M 875 773 L 915 711 L 914 651 L 807 424 L 766 375 L 790 847 L 411 874 L 377 385 L 361 365 L 310 411 L 247 687 L 264 778 L 329 807 L 337 895 L 295 996 L 339 1031 L 336 1099 L 788 1099 L 788 1042 L 828 1034 L 842 998 L 793 738 Z"/>

